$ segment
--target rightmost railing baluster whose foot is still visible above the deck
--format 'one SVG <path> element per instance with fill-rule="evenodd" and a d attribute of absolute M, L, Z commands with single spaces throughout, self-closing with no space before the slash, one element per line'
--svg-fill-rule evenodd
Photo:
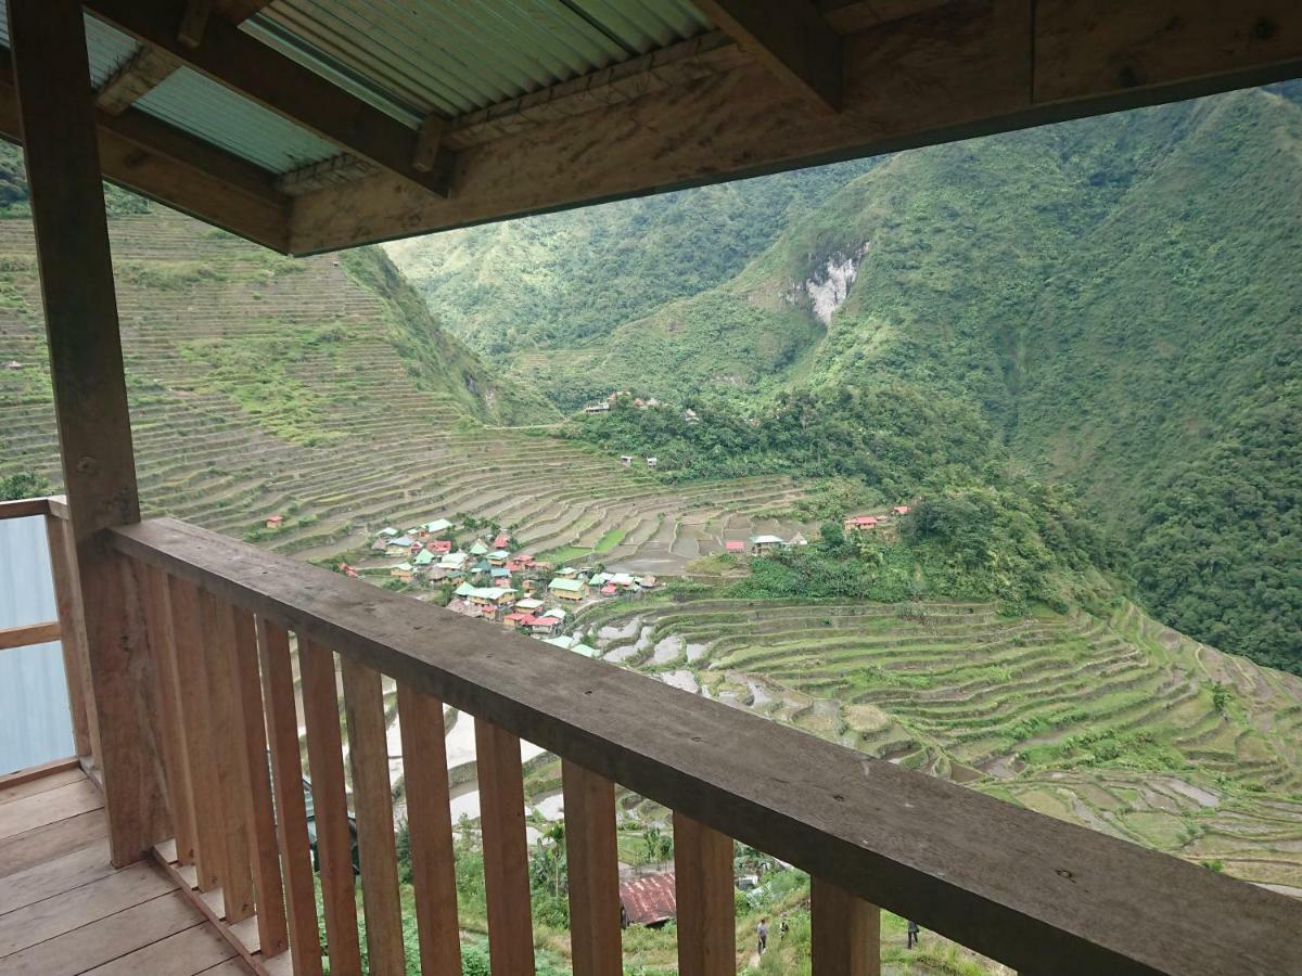
<path fill-rule="evenodd" d="M 266 956 L 280 955 L 289 947 L 285 932 L 285 894 L 280 884 L 280 850 L 276 841 L 276 812 L 267 778 L 267 731 L 262 711 L 262 679 L 258 674 L 258 635 L 253 614 L 232 610 L 233 640 L 227 645 L 236 698 L 238 734 L 243 746 L 238 759 L 245 829 L 250 837 L 254 907 L 258 914 L 258 942 Z"/>

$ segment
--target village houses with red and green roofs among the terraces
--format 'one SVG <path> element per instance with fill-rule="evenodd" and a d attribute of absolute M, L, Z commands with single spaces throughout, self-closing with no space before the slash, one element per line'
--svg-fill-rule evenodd
<path fill-rule="evenodd" d="M 897 505 L 879 514 L 848 515 L 841 527 L 846 534 L 889 530 L 910 510 L 909 505 Z M 266 519 L 271 531 L 283 524 L 283 515 Z M 469 541 L 458 544 L 458 535 Z M 759 534 L 720 539 L 716 552 L 738 560 L 763 558 L 807 544 L 801 532 L 788 539 Z M 535 558 L 517 547 L 509 531 L 461 515 L 436 518 L 405 531 L 385 526 L 375 532 L 363 558 L 339 562 L 335 570 L 391 590 L 413 590 L 418 599 L 439 603 L 462 617 L 499 623 L 586 657 L 599 652 L 565 632 L 578 610 L 602 600 L 639 597 L 664 586 L 650 573 Z"/>

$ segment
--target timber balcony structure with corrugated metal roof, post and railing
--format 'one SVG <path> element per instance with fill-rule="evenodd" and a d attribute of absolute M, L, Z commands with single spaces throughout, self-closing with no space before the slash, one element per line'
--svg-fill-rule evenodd
<path fill-rule="evenodd" d="M 0 134 L 23 144 L 66 489 L 0 517 L 42 515 L 68 537 L 77 751 L 0 777 L 0 881 L 22 874 L 0 884 L 0 925 L 22 929 L 36 902 L 77 886 L 77 924 L 51 943 L 91 968 L 105 962 L 96 932 L 141 934 L 100 893 L 145 878 L 180 893 L 230 966 L 320 973 L 301 692 L 329 971 L 362 968 L 352 816 L 368 966 L 404 972 L 387 675 L 408 769 L 443 748 L 444 703 L 474 717 L 495 976 L 534 971 L 521 737 L 562 761 L 581 976 L 621 971 L 616 781 L 673 811 L 685 975 L 733 971 L 734 838 L 811 874 L 820 976 L 879 971 L 879 907 L 1019 971 L 1298 971 L 1302 906 L 1284 895 L 142 521 L 102 181 L 311 254 L 1292 78 L 1302 7 L 7 0 L 0 23 Z M 7 642 L 39 636 L 20 631 Z M 68 782 L 82 769 L 94 785 Z M 43 800 L 53 789 L 82 812 Z M 441 770 L 410 777 L 406 800 L 411 951 L 427 972 L 456 972 Z M 133 943 L 122 964 L 154 953 L 152 972 L 194 972 L 155 945 Z"/>

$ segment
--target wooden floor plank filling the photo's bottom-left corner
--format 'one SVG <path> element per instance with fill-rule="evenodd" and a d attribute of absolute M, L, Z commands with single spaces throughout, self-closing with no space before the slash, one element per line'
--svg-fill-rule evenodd
<path fill-rule="evenodd" d="M 171 886 L 171 885 L 169 885 Z M 52 899 L 61 901 L 61 899 Z M 160 894 L 0 959 L 0 973 L 76 976 L 202 921 L 180 891 Z M 145 972 L 151 972 L 146 969 Z M 181 972 L 171 964 L 152 972 Z"/>

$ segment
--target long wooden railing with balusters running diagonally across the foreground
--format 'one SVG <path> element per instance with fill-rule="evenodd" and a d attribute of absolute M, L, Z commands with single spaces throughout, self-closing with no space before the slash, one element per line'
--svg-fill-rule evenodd
<path fill-rule="evenodd" d="M 878 972 L 878 906 L 1022 972 L 1302 971 L 1282 895 L 172 519 L 113 548 L 155 665 L 167 859 L 260 968 L 322 971 L 293 635 L 335 973 L 361 967 L 345 761 L 370 971 L 406 964 L 381 675 L 427 973 L 460 972 L 444 703 L 475 722 L 497 976 L 534 969 L 521 739 L 562 760 L 578 976 L 621 972 L 616 783 L 673 811 L 685 976 L 736 969 L 733 838 L 811 874 L 820 975 Z"/>

